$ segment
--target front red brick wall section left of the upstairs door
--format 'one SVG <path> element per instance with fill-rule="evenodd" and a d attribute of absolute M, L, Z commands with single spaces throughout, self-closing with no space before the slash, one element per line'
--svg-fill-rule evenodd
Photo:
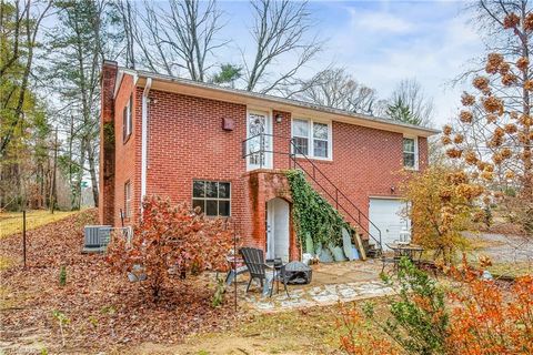
<path fill-rule="evenodd" d="M 247 108 L 161 91 L 150 92 L 148 194 L 192 203 L 192 180 L 231 182 L 231 215 L 243 236 L 252 216 L 247 207 L 241 142 Z M 233 131 L 222 120 L 234 121 Z"/>

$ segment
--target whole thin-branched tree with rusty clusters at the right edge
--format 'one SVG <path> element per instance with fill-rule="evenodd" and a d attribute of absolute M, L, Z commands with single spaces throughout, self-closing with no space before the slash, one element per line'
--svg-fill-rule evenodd
<path fill-rule="evenodd" d="M 525 0 L 481 0 L 473 10 L 489 53 L 463 75 L 473 88 L 463 93 L 457 122 L 444 126 L 442 141 L 446 154 L 463 160 L 487 186 L 509 221 L 531 234 L 533 8 Z"/>

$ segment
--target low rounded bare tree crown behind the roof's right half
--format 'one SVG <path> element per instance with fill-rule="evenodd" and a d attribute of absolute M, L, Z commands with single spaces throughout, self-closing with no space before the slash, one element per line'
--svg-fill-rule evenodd
<path fill-rule="evenodd" d="M 379 114 L 376 91 L 358 82 L 343 68 L 325 69 L 302 81 L 289 97 L 345 111 Z"/>

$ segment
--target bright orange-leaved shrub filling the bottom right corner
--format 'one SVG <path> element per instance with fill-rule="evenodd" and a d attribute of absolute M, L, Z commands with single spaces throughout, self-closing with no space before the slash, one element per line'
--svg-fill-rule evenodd
<path fill-rule="evenodd" d="M 452 270 L 462 286 L 449 293 L 450 354 L 533 354 L 533 277 L 524 276 L 505 290 L 480 273 Z"/>

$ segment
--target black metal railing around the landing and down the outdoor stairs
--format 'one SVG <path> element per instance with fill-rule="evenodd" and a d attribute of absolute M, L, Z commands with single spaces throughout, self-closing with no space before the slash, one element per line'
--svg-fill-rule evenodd
<path fill-rule="evenodd" d="M 266 139 L 269 140 L 269 144 L 266 144 Z M 280 139 L 288 139 L 289 140 L 289 150 L 288 152 L 280 152 L 275 151 L 273 149 L 273 139 L 274 138 L 280 138 Z M 259 149 L 255 151 L 249 151 L 249 142 L 250 140 L 258 140 L 259 139 Z M 266 149 L 266 145 L 270 145 L 272 148 Z M 248 159 L 252 154 L 259 154 L 259 161 L 260 161 L 260 169 L 263 168 L 263 162 L 265 161 L 265 154 L 284 154 L 289 155 L 289 169 L 299 169 L 301 170 L 309 179 L 311 179 L 321 190 L 323 193 L 328 195 L 328 197 L 331 199 L 331 202 L 334 203 L 335 209 L 340 212 L 342 212 L 344 219 L 348 220 L 348 217 L 358 227 L 360 227 L 369 237 L 371 237 L 375 243 L 375 248 L 378 250 L 378 253 L 382 252 L 382 240 L 381 240 L 381 231 L 380 229 L 369 219 L 368 215 L 365 215 L 356 205 L 353 203 L 320 169 L 316 166 L 316 164 L 306 156 L 302 152 L 302 150 L 294 143 L 294 139 L 292 138 L 286 138 L 282 135 L 275 135 L 275 134 L 269 134 L 269 133 L 259 133 L 257 135 L 253 135 L 242 142 L 242 158 Z M 299 160 L 304 161 L 306 164 L 311 166 L 311 169 L 306 169 Z M 319 176 L 323 179 L 329 185 L 331 191 L 325 189 L 322 183 L 319 182 Z M 344 206 L 340 202 L 340 197 L 342 197 L 344 201 L 346 201 L 348 206 Z M 355 211 L 355 214 L 358 217 L 355 217 L 349 209 L 352 207 Z M 352 210 L 352 212 L 353 212 Z M 348 221 L 350 222 L 350 221 Z M 365 222 L 369 224 L 369 229 L 364 226 Z M 372 234 L 369 230 L 370 226 L 373 226 L 376 231 L 376 234 Z"/>

